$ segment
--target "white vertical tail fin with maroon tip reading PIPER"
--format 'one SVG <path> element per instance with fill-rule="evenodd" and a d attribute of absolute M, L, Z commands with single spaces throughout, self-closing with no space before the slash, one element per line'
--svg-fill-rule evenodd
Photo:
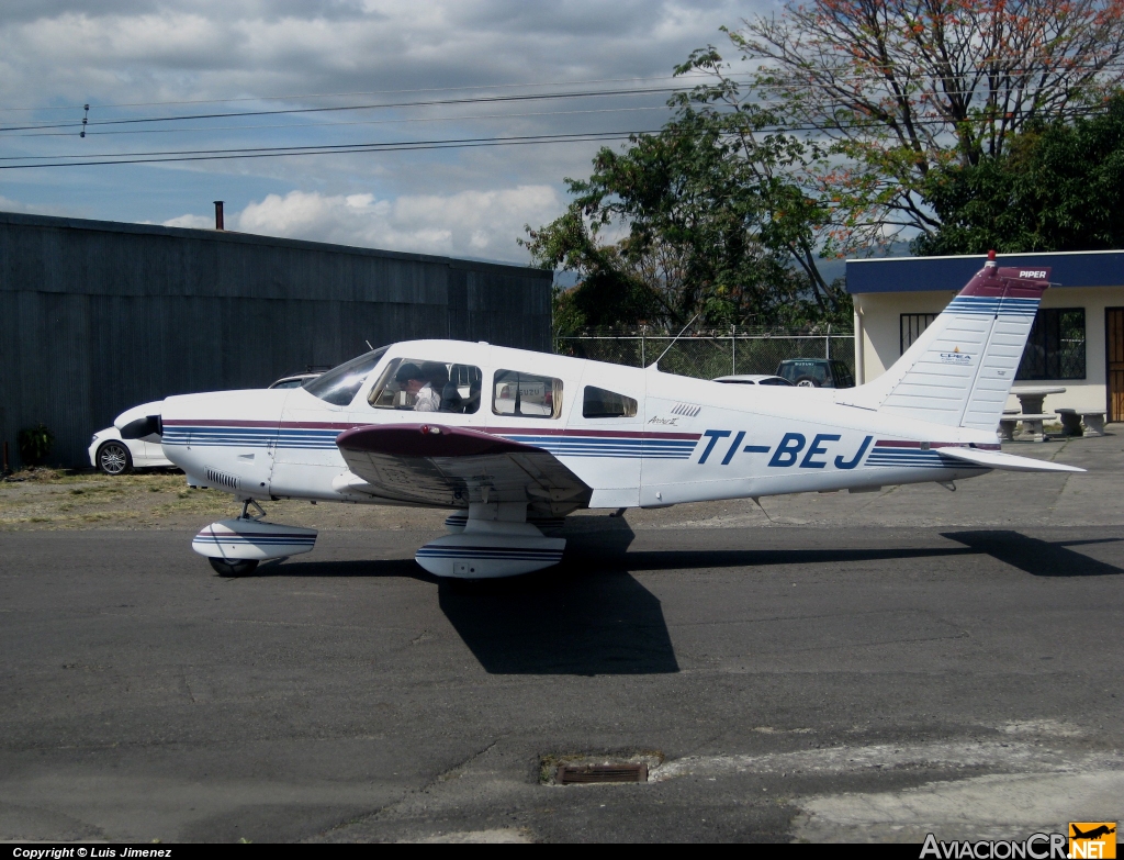
<path fill-rule="evenodd" d="M 881 377 L 837 402 L 952 427 L 995 431 L 1050 269 L 988 260 Z"/>

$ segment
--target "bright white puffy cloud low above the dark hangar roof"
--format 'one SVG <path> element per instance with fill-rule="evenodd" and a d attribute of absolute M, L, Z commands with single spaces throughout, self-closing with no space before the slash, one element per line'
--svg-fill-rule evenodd
<path fill-rule="evenodd" d="M 378 200 L 370 193 L 290 191 L 250 203 L 230 216 L 228 224 L 243 233 L 526 263 L 527 253 L 516 243 L 524 235 L 523 226 L 545 224 L 564 206 L 550 185 L 405 194 L 393 200 Z M 173 221 L 175 226 L 210 226 L 198 224 L 207 221 L 201 216 Z"/>

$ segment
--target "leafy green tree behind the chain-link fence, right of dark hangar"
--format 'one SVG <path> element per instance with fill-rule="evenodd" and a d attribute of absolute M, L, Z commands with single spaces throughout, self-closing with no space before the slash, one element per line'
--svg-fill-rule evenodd
<path fill-rule="evenodd" d="M 602 148 L 588 180 L 566 180 L 565 214 L 527 228 L 540 265 L 581 280 L 556 299 L 564 325 L 850 318 L 849 297 L 816 266 L 826 211 L 801 184 L 822 153 L 762 134 L 777 118 L 749 102 L 729 109 L 731 87 L 685 93 L 660 134 Z"/>

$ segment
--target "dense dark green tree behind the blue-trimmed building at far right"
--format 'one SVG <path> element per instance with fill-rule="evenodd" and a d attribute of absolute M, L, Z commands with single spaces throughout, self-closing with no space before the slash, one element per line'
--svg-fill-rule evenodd
<path fill-rule="evenodd" d="M 941 226 L 919 254 L 1124 247 L 1124 94 L 1090 118 L 1036 125 L 998 156 L 934 171 Z"/>

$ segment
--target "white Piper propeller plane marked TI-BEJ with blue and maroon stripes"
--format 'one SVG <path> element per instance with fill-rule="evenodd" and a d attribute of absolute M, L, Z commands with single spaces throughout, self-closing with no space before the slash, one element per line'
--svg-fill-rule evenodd
<path fill-rule="evenodd" d="M 170 397 L 119 429 L 160 438 L 190 486 L 243 501 L 192 543 L 221 574 L 314 547 L 314 529 L 263 519 L 260 501 L 292 498 L 452 508 L 450 534 L 418 563 L 439 577 L 516 576 L 562 558 L 565 540 L 544 532 L 579 508 L 1084 471 L 1003 453 L 996 434 L 1049 278 L 991 255 L 885 374 L 851 389 L 409 341 L 303 388 Z"/>

